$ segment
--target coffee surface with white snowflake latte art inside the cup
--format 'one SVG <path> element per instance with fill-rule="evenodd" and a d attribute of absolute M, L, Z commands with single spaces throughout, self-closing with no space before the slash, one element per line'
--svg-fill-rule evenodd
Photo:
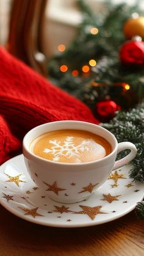
<path fill-rule="evenodd" d="M 32 142 L 31 151 L 41 158 L 62 163 L 95 161 L 112 152 L 106 139 L 81 130 L 45 133 Z"/>

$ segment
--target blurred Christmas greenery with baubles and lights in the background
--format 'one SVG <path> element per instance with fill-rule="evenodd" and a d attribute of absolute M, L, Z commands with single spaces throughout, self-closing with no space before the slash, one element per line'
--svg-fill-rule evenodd
<path fill-rule="evenodd" d="M 79 7 L 83 22 L 77 37 L 68 49 L 59 46 L 59 53 L 49 60 L 49 79 L 107 122 L 115 111 L 128 110 L 143 98 L 144 17 L 139 18 L 137 5 L 109 5 L 100 15 L 82 0 Z M 132 37 L 137 33 L 139 37 Z"/>

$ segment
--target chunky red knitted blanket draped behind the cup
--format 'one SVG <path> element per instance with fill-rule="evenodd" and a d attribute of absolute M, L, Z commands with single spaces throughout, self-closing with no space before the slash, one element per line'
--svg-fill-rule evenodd
<path fill-rule="evenodd" d="M 24 134 L 42 123 L 98 123 L 84 103 L 63 92 L 0 47 L 0 164 L 21 150 Z"/>

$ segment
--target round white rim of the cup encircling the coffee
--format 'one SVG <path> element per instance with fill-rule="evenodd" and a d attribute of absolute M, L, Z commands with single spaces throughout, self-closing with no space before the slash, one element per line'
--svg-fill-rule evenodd
<path fill-rule="evenodd" d="M 52 161 L 52 160 L 49 160 L 49 159 L 41 158 L 40 156 L 37 156 L 37 155 L 35 155 L 34 153 L 31 152 L 31 150 L 26 145 L 26 139 L 34 130 L 37 130 L 38 128 L 41 128 L 42 126 L 49 125 L 50 123 L 81 123 L 83 125 L 87 124 L 87 125 L 90 125 L 90 126 L 99 127 L 101 130 L 106 131 L 106 133 L 109 134 L 109 136 L 111 136 L 113 138 L 113 141 L 115 142 L 115 148 L 113 148 L 112 152 L 109 155 L 104 156 L 104 158 L 97 159 L 97 160 L 94 160 L 94 161 L 82 162 L 82 163 L 63 163 L 63 162 L 56 162 L 56 161 Z M 57 129 L 57 130 L 59 130 L 59 129 Z M 64 130 L 64 129 L 61 129 L 61 130 Z M 71 130 L 74 130 L 74 129 L 71 129 Z M 97 163 L 107 161 L 107 159 L 109 159 L 115 153 L 115 151 L 117 150 L 117 145 L 118 145 L 118 142 L 117 142 L 116 137 L 110 131 L 106 130 L 106 128 L 103 128 L 100 125 L 96 125 L 95 123 L 83 122 L 83 121 L 78 121 L 78 120 L 60 120 L 60 121 L 54 121 L 54 122 L 49 122 L 49 123 L 43 123 L 42 125 L 35 126 L 31 130 L 29 130 L 26 133 L 26 135 L 23 137 L 23 149 L 29 155 L 31 155 L 33 158 L 35 158 L 39 161 L 42 161 L 43 163 L 51 163 L 51 164 L 59 165 L 59 166 L 86 166 L 86 165 L 90 165 L 90 164 L 95 164 L 95 163 L 97 164 Z"/>

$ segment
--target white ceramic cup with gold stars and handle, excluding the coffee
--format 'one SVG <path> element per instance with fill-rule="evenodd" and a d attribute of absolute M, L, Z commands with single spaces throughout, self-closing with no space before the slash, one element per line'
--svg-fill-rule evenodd
<path fill-rule="evenodd" d="M 112 146 L 112 152 L 96 161 L 87 163 L 60 163 L 41 158 L 30 150 L 31 142 L 41 134 L 56 130 L 84 130 L 104 137 Z M 131 152 L 115 162 L 117 153 Z M 115 136 L 99 125 L 80 121 L 45 123 L 29 131 L 23 139 L 24 161 L 32 180 L 46 191 L 51 199 L 62 203 L 75 203 L 87 199 L 103 185 L 112 170 L 128 164 L 137 154 L 131 142 L 118 143 Z"/>

